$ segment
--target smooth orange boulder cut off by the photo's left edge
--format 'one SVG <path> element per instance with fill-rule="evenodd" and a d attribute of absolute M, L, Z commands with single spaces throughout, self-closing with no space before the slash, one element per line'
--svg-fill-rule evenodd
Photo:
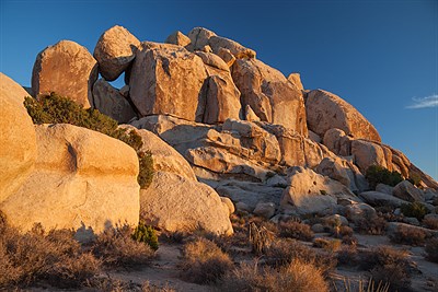
<path fill-rule="evenodd" d="M 0 72 L 0 203 L 14 194 L 31 174 L 36 137 L 23 106 L 27 92 Z"/>

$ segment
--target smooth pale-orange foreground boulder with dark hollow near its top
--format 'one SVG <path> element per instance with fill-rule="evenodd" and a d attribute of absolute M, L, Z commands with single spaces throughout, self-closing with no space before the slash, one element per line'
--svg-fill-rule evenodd
<path fill-rule="evenodd" d="M 100 233 L 139 220 L 138 159 L 122 141 L 84 128 L 35 126 L 35 170 L 0 203 L 22 231 L 34 223 L 47 230 L 91 227 Z"/>

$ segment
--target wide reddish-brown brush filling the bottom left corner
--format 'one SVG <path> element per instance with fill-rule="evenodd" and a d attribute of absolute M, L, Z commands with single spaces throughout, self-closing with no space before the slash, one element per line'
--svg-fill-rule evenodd
<path fill-rule="evenodd" d="M 70 231 L 36 225 L 20 234 L 0 222 L 0 290 L 44 281 L 58 288 L 80 288 L 100 271 L 101 262 L 84 253 Z"/>

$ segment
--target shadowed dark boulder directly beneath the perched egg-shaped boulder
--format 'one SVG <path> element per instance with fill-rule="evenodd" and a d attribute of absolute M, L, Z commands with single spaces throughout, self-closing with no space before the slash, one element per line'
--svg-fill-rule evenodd
<path fill-rule="evenodd" d="M 122 93 L 103 79 L 97 80 L 93 86 L 94 107 L 118 122 L 128 122 L 137 117 L 129 102 Z"/>

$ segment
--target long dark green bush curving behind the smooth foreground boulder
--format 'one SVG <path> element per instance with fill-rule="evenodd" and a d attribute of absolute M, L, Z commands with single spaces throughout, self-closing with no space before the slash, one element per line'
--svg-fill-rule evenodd
<path fill-rule="evenodd" d="M 150 152 L 141 151 L 141 137 L 135 131 L 118 128 L 117 121 L 101 114 L 96 109 L 82 108 L 70 98 L 56 93 L 39 95 L 37 98 L 25 97 L 24 106 L 34 124 L 71 124 L 90 130 L 99 131 L 118 139 L 137 152 L 140 172 L 138 183 L 141 188 L 149 187 L 153 178 L 153 161 Z"/>

